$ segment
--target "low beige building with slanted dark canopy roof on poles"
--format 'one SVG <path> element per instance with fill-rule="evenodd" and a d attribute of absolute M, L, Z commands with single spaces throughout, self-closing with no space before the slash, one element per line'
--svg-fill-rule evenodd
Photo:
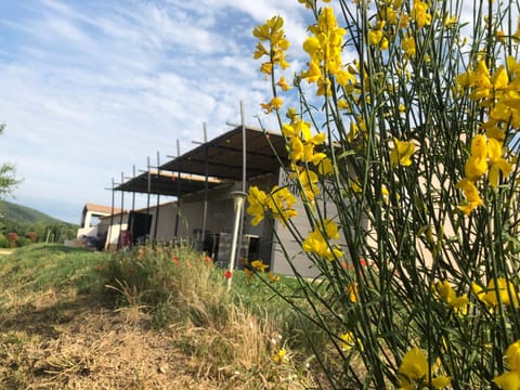
<path fill-rule="evenodd" d="M 243 152 L 245 151 L 245 153 Z M 282 134 L 250 127 L 236 127 L 226 133 L 205 142 L 194 150 L 148 169 L 113 190 L 122 193 L 145 193 L 148 204 L 145 209 L 130 210 L 128 217 L 114 213 L 107 245 L 157 242 L 190 242 L 207 251 L 225 266 L 231 256 L 231 233 L 234 221 L 232 193 L 247 192 L 256 185 L 269 191 L 283 185 L 284 169 L 288 165 L 286 142 Z M 174 196 L 176 202 L 160 204 L 160 196 Z M 304 212 L 296 223 L 306 232 Z M 121 234 L 119 234 L 121 232 Z M 262 221 L 250 224 L 250 217 L 242 221 L 240 258 L 261 259 L 270 270 L 291 274 L 291 266 L 280 250 L 275 236 L 291 248 L 294 264 L 304 276 L 315 276 L 307 256 L 299 253 L 287 229 L 278 223 Z M 123 236 L 123 239 L 121 237 Z M 238 262 L 239 264 L 239 262 Z"/>

